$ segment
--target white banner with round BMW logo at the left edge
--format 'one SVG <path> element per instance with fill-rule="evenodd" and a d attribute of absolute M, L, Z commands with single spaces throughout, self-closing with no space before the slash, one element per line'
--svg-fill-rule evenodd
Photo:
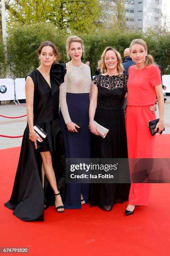
<path fill-rule="evenodd" d="M 0 79 L 0 100 L 14 100 L 14 81 L 11 78 Z"/>

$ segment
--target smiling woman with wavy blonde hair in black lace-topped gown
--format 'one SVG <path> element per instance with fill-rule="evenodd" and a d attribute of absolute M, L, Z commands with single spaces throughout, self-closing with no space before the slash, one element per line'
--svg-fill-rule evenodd
<path fill-rule="evenodd" d="M 92 158 L 128 158 L 122 108 L 128 76 L 121 73 L 121 56 L 112 47 L 104 50 L 99 65 L 103 74 L 93 80 L 89 109 Z M 104 139 L 98 136 L 93 120 L 109 129 Z M 91 184 L 90 206 L 111 210 L 116 202 L 128 200 L 129 189 L 130 184 Z"/>

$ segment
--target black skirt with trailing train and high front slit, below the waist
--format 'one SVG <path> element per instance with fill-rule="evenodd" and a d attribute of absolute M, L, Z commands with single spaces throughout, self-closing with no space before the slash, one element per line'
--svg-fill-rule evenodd
<path fill-rule="evenodd" d="M 28 125 L 25 128 L 13 192 L 10 200 L 5 203 L 17 218 L 25 221 L 44 220 L 44 205 L 47 207 L 55 203 L 53 190 L 46 177 L 42 187 L 42 159 L 39 151 L 44 151 L 45 147 L 51 151 L 52 166 L 62 200 L 65 196 L 65 148 L 59 120 L 40 125 L 44 129 L 48 127 L 45 129 L 47 138 L 42 147 L 38 143 L 37 150 L 34 150 L 34 143 L 29 139 Z"/>

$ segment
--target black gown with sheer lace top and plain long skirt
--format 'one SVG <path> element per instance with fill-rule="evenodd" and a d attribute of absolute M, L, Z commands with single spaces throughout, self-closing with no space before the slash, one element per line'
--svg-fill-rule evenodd
<path fill-rule="evenodd" d="M 92 158 L 128 158 L 125 116 L 122 109 L 128 76 L 96 76 L 97 108 L 94 120 L 109 129 L 106 137 L 92 134 Z M 93 85 L 95 86 L 95 85 Z M 90 184 L 90 206 L 113 206 L 128 200 L 130 184 Z"/>

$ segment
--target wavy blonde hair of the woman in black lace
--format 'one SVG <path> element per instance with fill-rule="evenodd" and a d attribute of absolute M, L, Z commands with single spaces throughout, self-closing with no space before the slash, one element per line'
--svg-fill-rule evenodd
<path fill-rule="evenodd" d="M 102 53 L 100 61 L 98 61 L 98 65 L 101 69 L 101 72 L 102 73 L 107 72 L 107 67 L 105 65 L 105 54 L 106 54 L 107 51 L 114 51 L 114 53 L 116 54 L 116 57 L 117 57 L 117 73 L 119 74 L 119 77 L 121 77 L 121 72 L 123 71 L 121 55 L 118 51 L 116 51 L 115 48 L 113 48 L 111 46 L 106 47 L 106 49 Z"/>

